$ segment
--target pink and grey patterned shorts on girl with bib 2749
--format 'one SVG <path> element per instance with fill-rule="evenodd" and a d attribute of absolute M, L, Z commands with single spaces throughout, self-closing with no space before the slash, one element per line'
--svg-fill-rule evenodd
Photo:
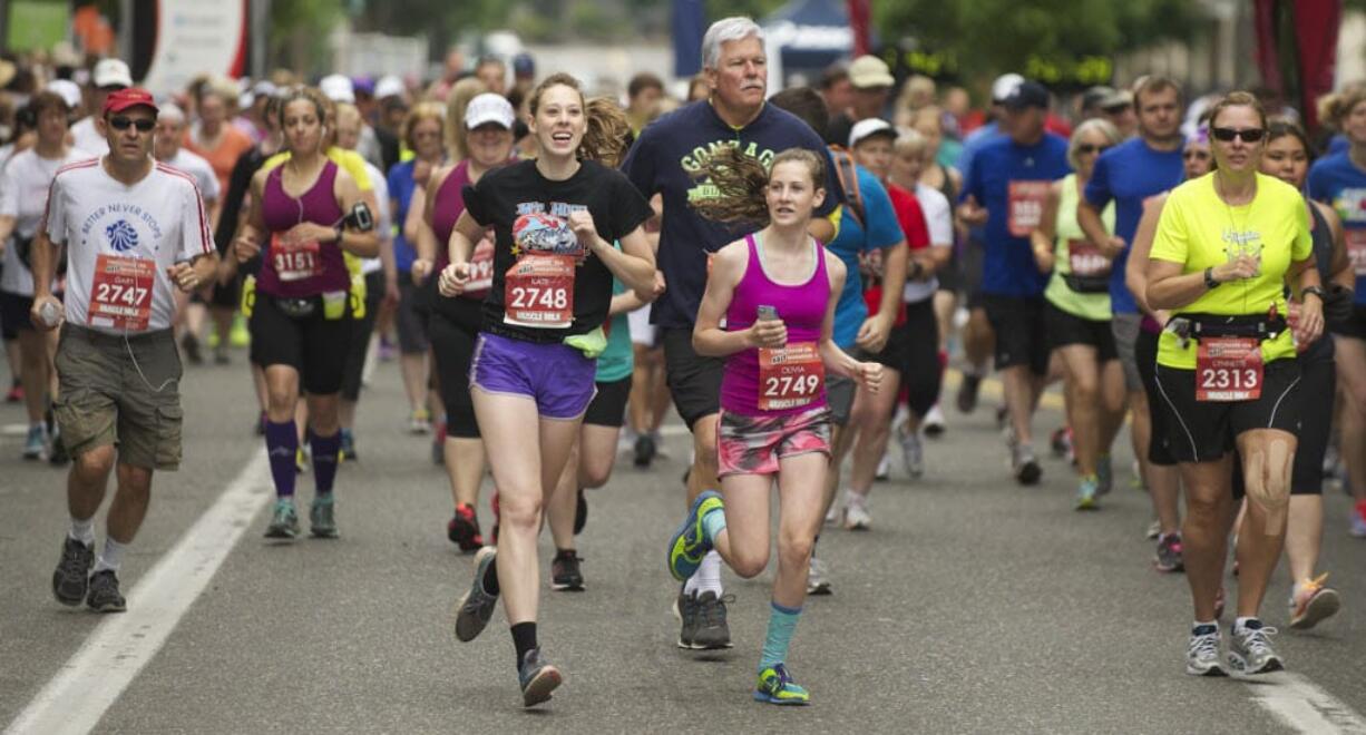
<path fill-rule="evenodd" d="M 721 411 L 716 433 L 717 477 L 777 474 L 781 459 L 809 452 L 831 456 L 831 410 L 826 406 L 780 417 Z"/>

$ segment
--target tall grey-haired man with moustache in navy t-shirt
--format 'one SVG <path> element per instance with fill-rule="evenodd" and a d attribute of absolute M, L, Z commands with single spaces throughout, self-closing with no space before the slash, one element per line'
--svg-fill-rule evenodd
<path fill-rule="evenodd" d="M 687 475 L 688 501 L 717 486 L 716 426 L 720 385 L 725 362 L 699 357 L 693 348 L 693 322 L 706 284 L 709 257 L 739 232 L 702 220 L 693 204 L 714 197 L 716 189 L 697 182 L 693 172 L 706 152 L 720 145 L 738 145 L 747 156 L 772 160 L 779 150 L 805 148 L 824 152 L 825 143 L 802 120 L 764 104 L 768 71 L 764 30 L 749 18 L 725 18 L 712 23 L 702 37 L 702 66 L 710 97 L 687 104 L 646 127 L 623 164 L 631 183 L 646 197 L 663 194 L 664 216 L 658 262 L 668 290 L 650 307 L 650 320 L 660 327 L 665 373 L 673 404 L 693 433 L 694 460 Z M 695 152 L 703 152 L 698 157 Z M 829 193 L 817 209 L 825 217 L 840 202 L 837 183 L 826 182 Z M 813 220 L 813 236 L 833 239 L 835 228 L 824 219 Z M 703 648 L 727 648 L 731 630 L 725 622 L 721 587 L 721 559 L 710 555 L 698 575 L 682 592 L 697 596 L 697 604 L 680 605 L 695 612 L 706 624 L 684 615 L 682 630 L 697 630 L 694 642 Z"/>

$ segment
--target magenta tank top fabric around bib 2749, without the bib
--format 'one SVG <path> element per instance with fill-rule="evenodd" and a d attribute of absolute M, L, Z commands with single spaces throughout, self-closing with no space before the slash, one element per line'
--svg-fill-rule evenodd
<path fill-rule="evenodd" d="M 787 344 L 791 350 L 800 343 L 818 344 L 821 322 L 831 302 L 831 279 L 825 272 L 825 249 L 811 240 L 816 268 L 811 277 L 799 286 L 775 283 L 764 271 L 759 247 L 754 235 L 744 238 L 750 260 L 744 275 L 735 287 L 731 306 L 725 310 L 727 331 L 749 329 L 758 314 L 759 306 L 773 306 L 779 318 L 787 325 Z M 775 385 L 761 385 L 759 351 L 743 350 L 727 358 L 725 374 L 721 378 L 721 408 L 740 415 L 790 415 L 825 406 L 825 385 L 821 383 L 806 395 L 814 396 L 809 403 L 785 408 L 761 408 L 761 391 L 772 391 Z M 780 388 L 785 393 L 785 387 Z M 770 393 L 772 395 L 772 393 Z"/>

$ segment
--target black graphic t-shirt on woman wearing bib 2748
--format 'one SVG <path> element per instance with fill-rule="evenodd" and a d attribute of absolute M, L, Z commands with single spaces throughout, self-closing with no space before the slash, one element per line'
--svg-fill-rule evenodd
<path fill-rule="evenodd" d="M 535 161 L 522 161 L 485 174 L 464 187 L 464 209 L 474 221 L 492 227 L 493 287 L 484 299 L 481 329 L 526 342 L 560 342 L 607 321 L 612 303 L 612 272 L 579 243 L 570 213 L 587 210 L 604 240 L 619 240 L 653 213 L 624 175 L 596 161 L 583 161 L 563 182 L 541 175 Z M 504 321 L 507 272 L 526 255 L 568 255 L 574 268 L 574 322 L 567 328 L 526 327 Z M 518 294 L 515 294 L 518 295 Z M 535 302 L 533 295 L 530 301 Z M 544 302 L 546 306 L 552 301 Z"/>

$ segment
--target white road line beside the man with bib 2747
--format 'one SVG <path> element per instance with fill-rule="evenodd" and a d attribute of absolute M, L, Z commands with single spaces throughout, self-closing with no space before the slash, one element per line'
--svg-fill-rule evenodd
<path fill-rule="evenodd" d="M 85 734 L 100 723 L 270 500 L 266 467 L 265 451 L 251 456 L 219 500 L 133 587 L 128 612 L 105 618 L 5 735 Z"/>

